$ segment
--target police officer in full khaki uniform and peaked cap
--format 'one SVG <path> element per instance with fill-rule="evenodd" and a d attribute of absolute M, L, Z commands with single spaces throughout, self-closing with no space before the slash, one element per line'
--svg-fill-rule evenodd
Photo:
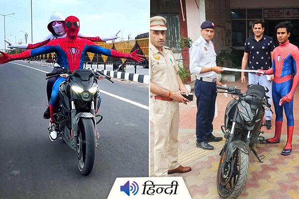
<path fill-rule="evenodd" d="M 154 173 L 166 176 L 186 173 L 191 167 L 182 167 L 177 162 L 179 102 L 187 104 L 188 95 L 177 71 L 178 66 L 171 49 L 165 47 L 166 19 L 161 16 L 150 18 L 149 78 L 150 120 L 154 125 Z"/>

